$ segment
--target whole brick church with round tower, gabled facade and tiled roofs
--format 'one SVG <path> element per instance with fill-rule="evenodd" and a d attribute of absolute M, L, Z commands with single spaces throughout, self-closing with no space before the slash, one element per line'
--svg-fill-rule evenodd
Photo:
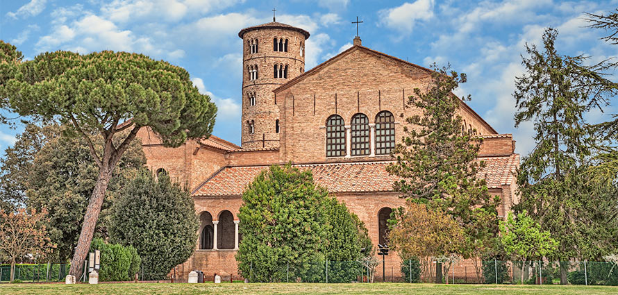
<path fill-rule="evenodd" d="M 305 71 L 310 34 L 302 28 L 270 22 L 244 28 L 238 36 L 243 40 L 242 146 L 211 136 L 172 149 L 148 129 L 138 134 L 147 165 L 189 187 L 199 215 L 195 251 L 173 270 L 176 278 L 186 280 L 193 269 L 240 278 L 235 254 L 242 193 L 260 171 L 287 162 L 312 171 L 319 185 L 365 222 L 374 245 L 383 244 L 386 219 L 404 204 L 385 167 L 403 135 L 403 118 L 421 112 L 404 108 L 404 101 L 415 88 L 428 87 L 431 71 L 363 47 L 360 37 L 350 49 Z M 478 159 L 486 167 L 480 176 L 490 194 L 501 197 L 503 218 L 515 201 L 515 141 L 465 103 L 460 115 L 466 130 L 484 138 Z M 386 259 L 387 276 L 392 271 L 398 276 L 398 255 Z M 381 276 L 378 267 L 376 278 Z"/>

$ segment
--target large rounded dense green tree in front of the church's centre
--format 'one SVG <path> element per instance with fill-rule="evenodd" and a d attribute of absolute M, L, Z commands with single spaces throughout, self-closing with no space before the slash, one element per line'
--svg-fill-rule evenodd
<path fill-rule="evenodd" d="M 371 248 L 367 229 L 344 204 L 315 185 L 310 171 L 272 166 L 242 195 L 236 260 L 252 282 L 350 282 L 360 273 L 361 248 Z M 370 249 L 369 249 L 370 251 Z M 351 262 L 355 261 L 355 262 Z"/>

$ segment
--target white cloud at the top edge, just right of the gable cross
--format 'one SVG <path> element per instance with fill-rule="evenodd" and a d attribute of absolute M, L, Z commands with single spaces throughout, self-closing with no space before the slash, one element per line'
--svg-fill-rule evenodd
<path fill-rule="evenodd" d="M 433 17 L 433 0 L 417 0 L 413 3 L 403 3 L 396 8 L 378 11 L 381 24 L 396 31 L 411 33 L 417 20 L 428 20 Z"/>

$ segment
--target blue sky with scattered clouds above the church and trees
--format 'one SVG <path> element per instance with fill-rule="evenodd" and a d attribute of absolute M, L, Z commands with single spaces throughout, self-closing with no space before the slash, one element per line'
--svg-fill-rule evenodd
<path fill-rule="evenodd" d="M 27 59 L 59 49 L 144 53 L 187 69 L 219 108 L 214 134 L 240 143 L 241 28 L 277 21 L 305 28 L 306 69 L 351 46 L 360 25 L 362 44 L 428 66 L 450 62 L 468 75 L 458 94 L 499 133 L 513 133 L 517 152 L 533 147 L 533 126 L 513 126 L 515 76 L 523 72 L 526 42 L 540 44 L 546 26 L 558 28 L 558 51 L 591 60 L 618 56 L 618 46 L 584 28 L 583 12 L 607 13 L 614 1 L 351 1 L 351 0 L 0 0 L 0 39 Z M 616 79 L 615 79 L 616 80 Z M 615 101 L 615 105 L 618 104 Z M 610 112 L 618 112 L 610 108 Z M 607 115 L 591 112 L 591 121 Z M 0 150 L 15 141 L 0 126 Z"/>

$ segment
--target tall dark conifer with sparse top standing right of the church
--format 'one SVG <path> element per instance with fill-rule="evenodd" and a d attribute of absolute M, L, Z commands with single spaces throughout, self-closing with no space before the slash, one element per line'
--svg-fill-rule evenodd
<path fill-rule="evenodd" d="M 581 182 L 583 166 L 603 145 L 584 115 L 592 108 L 602 109 L 618 85 L 603 74 L 610 66 L 606 61 L 585 65 L 586 56 L 560 56 L 554 45 L 557 35 L 555 29 L 546 29 L 544 51 L 526 44 L 526 73 L 516 80 L 515 126 L 533 121 L 536 133 L 535 148 L 524 157 L 518 174 L 519 207 L 558 241 L 552 259 L 583 260 L 593 258 L 586 249 L 600 237 L 591 235 L 590 227 L 607 222 L 603 214 L 590 214 L 589 209 L 603 201 L 590 198 L 590 187 Z M 567 283 L 565 264 L 560 283 Z"/>

